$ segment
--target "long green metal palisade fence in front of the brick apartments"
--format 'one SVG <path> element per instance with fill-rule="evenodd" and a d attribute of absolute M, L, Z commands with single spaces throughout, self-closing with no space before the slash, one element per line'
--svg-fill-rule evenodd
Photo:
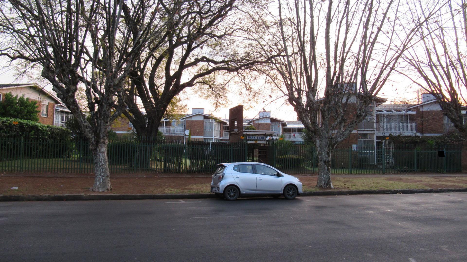
<path fill-rule="evenodd" d="M 246 143 L 156 143 L 132 139 L 111 141 L 111 173 L 210 173 L 218 163 L 266 162 L 290 174 L 318 172 L 318 154 L 311 145 L 251 145 Z M 457 145 L 411 148 L 336 148 L 334 174 L 461 172 Z M 444 157 L 443 157 L 444 155 Z M 89 143 L 82 140 L 0 138 L 0 172 L 93 173 Z"/>

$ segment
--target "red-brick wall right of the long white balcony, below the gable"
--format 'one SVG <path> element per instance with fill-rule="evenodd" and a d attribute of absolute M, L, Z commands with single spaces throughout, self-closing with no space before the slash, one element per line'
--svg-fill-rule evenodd
<path fill-rule="evenodd" d="M 417 132 L 423 134 L 443 134 L 443 111 L 422 111 L 417 108 L 414 121 L 417 123 Z"/>

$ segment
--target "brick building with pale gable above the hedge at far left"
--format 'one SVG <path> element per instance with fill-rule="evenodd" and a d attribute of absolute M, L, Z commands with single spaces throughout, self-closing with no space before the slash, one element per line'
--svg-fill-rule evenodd
<path fill-rule="evenodd" d="M 39 106 L 39 123 L 56 126 L 64 126 L 71 117 L 70 110 L 49 91 L 35 83 L 0 84 L 0 100 L 5 94 L 12 93 L 14 96 L 23 96 L 29 100 L 36 101 Z"/>

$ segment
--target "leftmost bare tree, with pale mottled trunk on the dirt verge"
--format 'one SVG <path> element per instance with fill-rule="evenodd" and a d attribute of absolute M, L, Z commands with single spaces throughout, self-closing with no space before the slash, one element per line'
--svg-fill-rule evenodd
<path fill-rule="evenodd" d="M 108 130 L 121 115 L 124 81 L 142 49 L 163 26 L 151 0 L 10 0 L 1 4 L 0 55 L 35 63 L 90 141 L 92 191 L 112 190 Z M 137 32 L 134 34 L 134 32 Z M 85 89 L 86 107 L 77 101 Z M 86 120 L 86 115 L 90 120 Z"/>

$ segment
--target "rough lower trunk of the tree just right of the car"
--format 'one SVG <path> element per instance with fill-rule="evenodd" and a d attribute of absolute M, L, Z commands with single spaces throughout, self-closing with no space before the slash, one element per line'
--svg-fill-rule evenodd
<path fill-rule="evenodd" d="M 324 139 L 323 139 L 324 140 Z M 333 146 L 328 141 L 320 141 L 318 150 L 318 183 L 317 187 L 334 188 L 331 183 L 331 154 Z"/>

